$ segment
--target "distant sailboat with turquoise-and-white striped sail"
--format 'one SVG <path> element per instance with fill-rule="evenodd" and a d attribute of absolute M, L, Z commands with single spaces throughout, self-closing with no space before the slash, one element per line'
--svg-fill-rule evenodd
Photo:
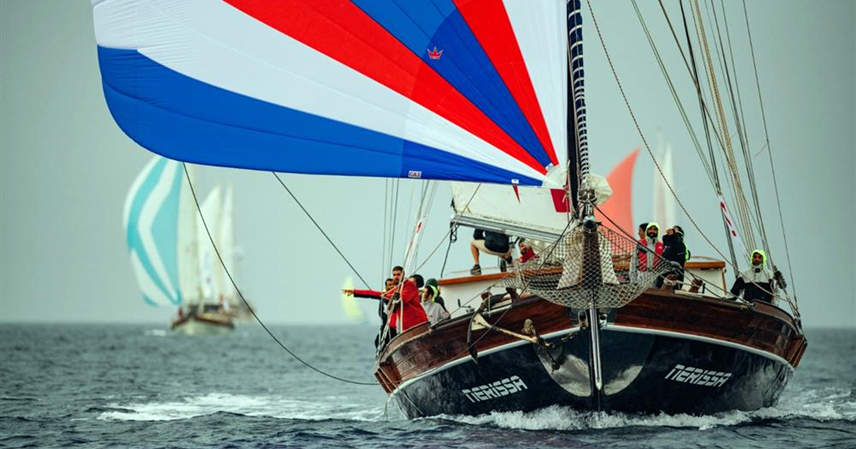
<path fill-rule="evenodd" d="M 231 197 L 231 194 L 229 195 Z M 219 230 L 220 189 L 205 200 L 203 214 Z M 234 328 L 215 279 L 216 257 L 196 211 L 181 163 L 159 156 L 137 176 L 125 199 L 124 229 L 131 266 L 152 306 L 177 307 L 172 329 L 182 334 L 217 334 Z M 222 278 L 222 276 L 219 276 Z"/>

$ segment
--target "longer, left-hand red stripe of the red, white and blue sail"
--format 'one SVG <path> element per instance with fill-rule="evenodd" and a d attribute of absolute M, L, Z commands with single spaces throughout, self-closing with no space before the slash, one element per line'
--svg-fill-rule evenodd
<path fill-rule="evenodd" d="M 245 14 L 410 98 L 539 173 L 546 169 L 401 41 L 349 1 L 225 0 Z"/>

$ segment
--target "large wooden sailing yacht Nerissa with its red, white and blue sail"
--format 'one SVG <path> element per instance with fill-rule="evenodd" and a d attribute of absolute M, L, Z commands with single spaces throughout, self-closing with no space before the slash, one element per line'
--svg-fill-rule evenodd
<path fill-rule="evenodd" d="M 725 115 L 690 4 L 698 39 L 685 33 L 686 46 L 708 69 L 690 75 L 691 94 L 716 137 L 703 162 L 731 176 L 708 172 L 727 242 L 742 253 L 738 239 L 751 248 L 760 228 L 768 247 L 742 117 Z M 102 0 L 93 14 L 107 104 L 143 147 L 239 169 L 451 181 L 453 227 L 543 243 L 506 273 L 443 279 L 447 304 L 460 300 L 453 317 L 379 349 L 375 377 L 408 417 L 753 410 L 775 404 L 799 365 L 807 343 L 778 272 L 770 302 L 728 292 L 726 265 L 746 265 L 734 256 L 690 260 L 685 286 L 655 288 L 675 267 L 603 213 L 611 188 L 590 154 L 607 150 L 590 148 L 579 0 Z M 417 216 L 406 268 L 420 266 Z"/>

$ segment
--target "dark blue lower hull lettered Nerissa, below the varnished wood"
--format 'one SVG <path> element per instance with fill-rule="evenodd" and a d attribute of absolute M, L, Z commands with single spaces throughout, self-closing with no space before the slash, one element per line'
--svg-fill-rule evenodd
<path fill-rule="evenodd" d="M 607 325 L 600 332 L 603 382 L 589 374 L 590 334 L 572 328 L 547 336 L 545 349 L 516 340 L 450 361 L 392 392 L 410 417 L 530 411 L 550 405 L 580 410 L 709 414 L 776 403 L 793 374 L 783 358 L 708 337 Z"/>

